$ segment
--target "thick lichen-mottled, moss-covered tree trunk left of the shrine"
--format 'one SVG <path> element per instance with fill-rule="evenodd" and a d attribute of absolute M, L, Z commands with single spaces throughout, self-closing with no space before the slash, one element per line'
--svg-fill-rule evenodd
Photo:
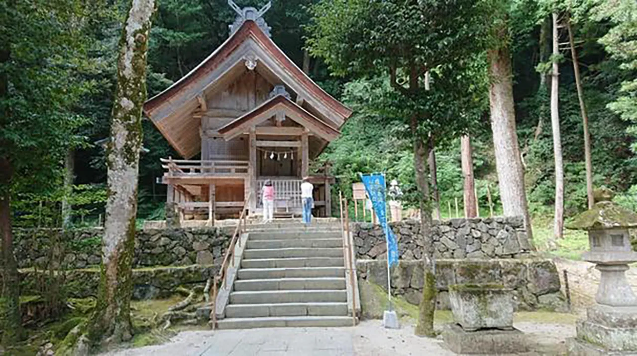
<path fill-rule="evenodd" d="M 118 343 L 132 337 L 132 257 L 142 140 L 141 110 L 147 97 L 146 59 L 154 0 L 132 0 L 117 61 L 117 90 L 108 146 L 108 200 L 102 268 L 89 339 Z"/>

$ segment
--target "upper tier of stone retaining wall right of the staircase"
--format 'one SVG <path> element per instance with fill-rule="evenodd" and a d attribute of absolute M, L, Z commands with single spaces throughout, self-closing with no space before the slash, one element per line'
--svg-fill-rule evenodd
<path fill-rule="evenodd" d="M 416 220 L 390 223 L 398 240 L 399 259 L 421 259 L 420 224 Z M 531 252 L 522 217 L 493 217 L 433 221 L 437 259 L 519 258 Z M 385 259 L 387 247 L 380 225 L 354 226 L 357 259 Z"/>

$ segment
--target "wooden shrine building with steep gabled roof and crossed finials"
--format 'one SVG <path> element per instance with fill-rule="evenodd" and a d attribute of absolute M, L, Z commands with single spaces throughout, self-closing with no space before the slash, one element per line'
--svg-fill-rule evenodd
<path fill-rule="evenodd" d="M 301 212 L 301 181 L 315 186 L 315 216 L 330 216 L 334 178 L 312 160 L 352 111 L 276 46 L 261 10 L 239 9 L 230 37 L 195 69 L 144 104 L 144 114 L 182 159 L 162 159 L 167 202 L 182 214 L 261 214 L 261 187 L 275 206 Z M 200 158 L 200 159 L 197 159 Z M 324 168 L 324 167 L 323 167 Z"/>

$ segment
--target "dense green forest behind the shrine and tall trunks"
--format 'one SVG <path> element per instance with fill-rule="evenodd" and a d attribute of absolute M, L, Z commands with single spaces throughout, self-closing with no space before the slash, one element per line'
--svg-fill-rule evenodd
<path fill-rule="evenodd" d="M 84 32 L 88 36 L 82 46 L 85 64 L 78 65 L 79 71 L 75 71 L 72 78 L 61 78 L 83 89 L 76 93 L 76 100 L 58 113 L 76 118 L 75 136 L 66 140 L 66 158 L 61 158 L 59 167 L 50 172 L 54 184 L 47 184 L 48 188 L 44 190 L 32 189 L 30 184 L 16 185 L 12 195 L 13 226 L 61 226 L 62 205 L 73 208 L 68 221 L 73 226 L 95 225 L 101 221 L 106 201 L 103 139 L 109 135 L 117 79 L 116 48 L 127 3 L 124 0 L 104 3 L 93 10 L 92 21 L 85 24 Z M 239 6 L 261 6 L 265 1 L 236 3 Z M 411 142 L 394 134 L 394 130 L 399 128 L 387 127 L 382 120 L 382 112 L 370 109 L 374 107 L 371 105 L 374 100 L 391 100 L 389 83 L 383 78 L 331 76 L 322 60 L 308 55 L 306 37 L 312 25 L 308 7 L 313 3 L 317 1 L 273 1 L 265 18 L 272 27 L 273 40 L 283 52 L 299 67 L 306 69 L 322 88 L 354 109 L 354 115 L 342 128 L 343 135 L 319 158 L 332 164 L 338 184 L 334 192 L 342 190 L 351 196 L 351 184 L 359 181 L 359 172 L 385 172 L 388 179 L 397 179 L 401 183 L 405 207 L 413 207 L 417 193 Z M 519 0 L 513 3 L 516 4 L 510 13 L 513 94 L 527 198 L 534 222 L 548 225 L 555 198 L 554 157 L 549 90 L 543 89 L 540 82 L 542 76 L 547 76 L 543 68 L 551 60 L 559 62 L 559 113 L 567 219 L 587 207 L 582 118 L 569 46 L 561 46 L 559 57 L 550 56 L 552 38 L 546 1 Z M 615 0 L 615 3 L 619 6 L 624 2 Z M 600 39 L 608 38 L 616 31 L 617 19 L 601 16 L 592 8 L 588 1 L 571 4 L 584 100 L 589 113 L 594 186 L 613 189 L 618 193 L 615 196 L 618 203 L 637 210 L 637 131 L 634 128 L 637 125 L 634 105 L 637 98 L 634 91 L 628 92 L 627 99 L 632 98 L 632 106 L 629 101 L 623 109 L 617 109 L 618 98 L 626 97 L 626 90 L 620 90 L 622 83 L 634 80 L 637 66 L 633 64 L 631 67 L 626 61 L 622 64 L 621 58 L 612 56 L 608 46 L 601 43 Z M 223 43 L 228 36 L 228 24 L 233 22 L 234 16 L 225 0 L 161 1 L 150 36 L 148 96 L 152 97 L 180 79 Z M 634 41 L 637 29 L 630 31 L 624 32 L 624 36 L 633 36 Z M 560 29 L 559 32 L 559 42 L 568 44 L 566 30 Z M 548 82 L 550 85 L 550 80 Z M 485 106 L 473 113 L 476 125 L 470 132 L 476 196 L 482 216 L 489 211 L 487 190 L 492 195 L 496 214 L 501 209 L 486 99 Z M 140 221 L 163 217 L 166 186 L 156 182 L 163 174 L 159 158 L 178 156 L 150 121 L 143 121 L 143 130 L 145 150 L 140 160 L 138 196 Z M 457 199 L 459 214 L 463 216 L 460 139 L 440 142 L 436 146 L 436 159 L 441 212 L 443 217 L 449 214 L 455 216 Z M 67 182 L 69 177 L 72 178 L 70 195 L 65 194 L 65 177 Z M 451 212 L 448 209 L 450 205 Z"/>

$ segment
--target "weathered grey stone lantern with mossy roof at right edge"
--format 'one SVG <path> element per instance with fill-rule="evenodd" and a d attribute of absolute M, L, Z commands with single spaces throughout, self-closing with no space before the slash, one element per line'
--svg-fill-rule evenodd
<path fill-rule="evenodd" d="M 628 264 L 637 261 L 628 232 L 637 228 L 637 214 L 610 198 L 606 194 L 568 226 L 587 231 L 590 251 L 582 259 L 601 272 L 597 303 L 578 321 L 577 336 L 568 342 L 569 355 L 637 354 L 637 297 L 625 275 Z"/>

